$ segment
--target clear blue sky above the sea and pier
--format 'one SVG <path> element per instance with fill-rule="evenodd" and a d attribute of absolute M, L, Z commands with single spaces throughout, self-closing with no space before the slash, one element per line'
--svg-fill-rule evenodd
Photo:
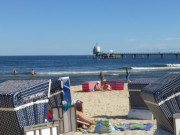
<path fill-rule="evenodd" d="M 179 51 L 179 0 L 1 0 L 0 55 Z"/>

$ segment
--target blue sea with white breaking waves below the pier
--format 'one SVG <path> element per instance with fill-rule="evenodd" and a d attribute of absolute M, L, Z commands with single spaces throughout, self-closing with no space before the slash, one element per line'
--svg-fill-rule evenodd
<path fill-rule="evenodd" d="M 13 68 L 17 74 L 13 74 Z M 93 56 L 1 56 L 0 82 L 12 79 L 57 79 L 69 76 L 71 85 L 98 80 L 102 71 L 106 80 L 125 80 L 124 67 L 131 67 L 130 79 L 161 77 L 180 71 L 180 57 L 151 55 L 149 59 L 127 56 L 126 59 L 93 59 Z M 34 69 L 35 75 L 31 75 Z"/>

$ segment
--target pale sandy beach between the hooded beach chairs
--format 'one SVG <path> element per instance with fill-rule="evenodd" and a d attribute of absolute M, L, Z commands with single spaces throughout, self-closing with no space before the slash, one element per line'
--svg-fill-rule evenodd
<path fill-rule="evenodd" d="M 71 86 L 72 100 L 83 101 L 83 113 L 96 120 L 110 120 L 113 126 L 123 123 L 153 123 L 150 131 L 127 130 L 116 131 L 109 135 L 153 135 L 156 130 L 156 120 L 136 120 L 128 119 L 129 94 L 127 84 L 124 90 L 113 90 L 106 92 L 82 92 L 82 86 Z M 89 128 L 89 134 L 94 132 L 95 126 Z M 78 129 L 77 132 L 66 133 L 67 135 L 81 135 L 87 129 Z"/>

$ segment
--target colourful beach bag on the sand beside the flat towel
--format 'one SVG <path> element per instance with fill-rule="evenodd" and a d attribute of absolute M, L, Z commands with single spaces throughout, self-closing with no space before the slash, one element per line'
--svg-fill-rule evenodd
<path fill-rule="evenodd" d="M 115 132 L 114 127 L 111 125 L 109 120 L 100 120 L 96 123 L 94 133 L 113 133 Z"/>

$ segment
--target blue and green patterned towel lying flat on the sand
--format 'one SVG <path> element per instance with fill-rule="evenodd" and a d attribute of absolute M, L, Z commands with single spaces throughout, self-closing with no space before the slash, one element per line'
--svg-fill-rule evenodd
<path fill-rule="evenodd" d="M 153 126 L 152 123 L 146 123 L 146 124 L 138 124 L 138 123 L 129 123 L 129 124 L 120 124 L 118 126 L 115 126 L 115 130 L 146 130 L 149 131 L 151 127 Z"/>

